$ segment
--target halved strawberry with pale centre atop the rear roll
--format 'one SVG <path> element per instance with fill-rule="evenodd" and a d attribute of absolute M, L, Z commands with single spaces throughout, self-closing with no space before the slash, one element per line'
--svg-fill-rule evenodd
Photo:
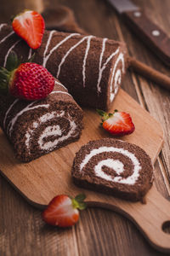
<path fill-rule="evenodd" d="M 36 11 L 25 10 L 20 15 L 14 17 L 12 26 L 14 32 L 20 38 L 23 38 L 32 49 L 40 47 L 45 29 L 45 22 L 42 15 Z"/>

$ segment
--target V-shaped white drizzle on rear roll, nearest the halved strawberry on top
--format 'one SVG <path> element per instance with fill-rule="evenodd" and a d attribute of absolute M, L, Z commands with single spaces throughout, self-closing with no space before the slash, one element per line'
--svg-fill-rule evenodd
<path fill-rule="evenodd" d="M 66 38 L 64 38 L 62 41 L 60 41 L 59 44 L 56 44 L 56 45 L 54 46 L 54 48 L 52 48 L 52 49 L 49 51 L 48 55 L 46 55 L 46 53 L 47 53 L 47 51 L 48 51 L 48 45 L 49 45 L 50 42 L 51 42 L 51 38 L 52 38 L 52 36 L 53 36 L 53 33 L 54 33 L 54 31 L 52 31 L 52 32 L 49 33 L 48 43 L 46 44 L 46 48 L 45 48 L 44 54 L 43 54 L 43 62 L 42 62 L 42 66 L 43 66 L 43 67 L 46 67 L 48 58 L 50 57 L 50 55 L 52 55 L 52 53 L 54 52 L 55 49 L 58 49 L 59 46 L 60 46 L 61 44 L 64 44 L 69 38 L 72 38 L 72 37 L 74 37 L 74 36 L 76 36 L 76 35 L 79 35 L 78 33 L 72 33 L 72 34 L 70 34 L 69 36 L 67 36 Z"/>

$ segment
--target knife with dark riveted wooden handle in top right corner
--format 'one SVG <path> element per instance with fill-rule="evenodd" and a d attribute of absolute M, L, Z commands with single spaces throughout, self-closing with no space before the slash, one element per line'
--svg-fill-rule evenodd
<path fill-rule="evenodd" d="M 129 0 L 109 0 L 122 15 L 127 26 L 146 44 L 161 61 L 170 66 L 170 38 Z"/>

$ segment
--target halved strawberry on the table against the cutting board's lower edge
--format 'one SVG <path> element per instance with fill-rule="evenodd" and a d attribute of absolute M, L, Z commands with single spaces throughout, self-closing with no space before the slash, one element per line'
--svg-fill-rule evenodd
<path fill-rule="evenodd" d="M 42 219 L 47 223 L 59 227 L 70 227 L 77 223 L 79 211 L 86 207 L 85 195 L 70 198 L 68 195 L 57 195 L 49 202 L 42 212 Z"/>

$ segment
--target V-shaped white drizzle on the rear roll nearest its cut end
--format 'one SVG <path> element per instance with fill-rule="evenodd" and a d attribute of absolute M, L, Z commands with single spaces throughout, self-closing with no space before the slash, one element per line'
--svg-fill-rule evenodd
<path fill-rule="evenodd" d="M 98 84 L 97 84 L 97 90 L 98 90 L 98 92 L 101 92 L 101 88 L 100 88 L 99 84 L 100 84 L 100 81 L 101 81 L 101 78 L 102 78 L 102 73 L 103 73 L 104 70 L 105 70 L 105 67 L 107 66 L 108 62 L 111 61 L 111 59 L 113 58 L 113 56 L 115 56 L 115 55 L 118 54 L 118 52 L 119 52 L 119 48 L 117 48 L 116 51 L 113 52 L 113 53 L 107 58 L 107 60 L 105 61 L 103 67 L 101 67 L 103 55 L 104 55 L 104 52 L 105 52 L 105 42 L 106 42 L 106 40 L 107 40 L 107 38 L 104 38 L 104 39 L 103 39 L 102 51 L 101 51 L 101 55 L 100 55 L 100 57 L 99 57 L 99 78 L 98 78 Z"/>

